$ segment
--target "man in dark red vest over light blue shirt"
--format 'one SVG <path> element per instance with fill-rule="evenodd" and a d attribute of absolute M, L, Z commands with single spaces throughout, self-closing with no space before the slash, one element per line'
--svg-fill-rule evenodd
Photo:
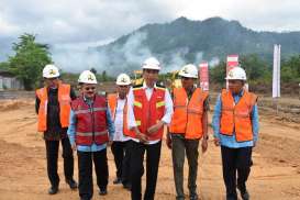
<path fill-rule="evenodd" d="M 78 82 L 81 96 L 71 102 L 68 136 L 73 149 L 77 149 L 80 199 L 90 200 L 93 195 L 92 163 L 99 195 L 108 193 L 107 144 L 113 138 L 114 125 L 105 98 L 97 95 L 96 76 L 85 70 Z"/>

